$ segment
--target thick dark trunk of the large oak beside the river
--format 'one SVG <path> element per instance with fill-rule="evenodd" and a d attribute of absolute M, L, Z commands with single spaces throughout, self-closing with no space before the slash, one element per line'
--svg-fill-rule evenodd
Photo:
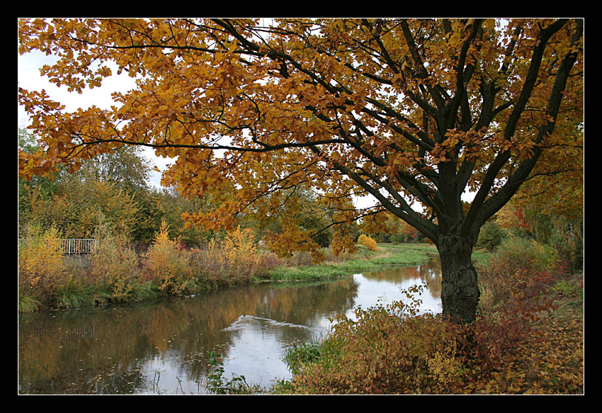
<path fill-rule="evenodd" d="M 479 286 L 477 271 L 472 266 L 472 247 L 475 239 L 444 235 L 437 248 L 441 258 L 441 302 L 443 318 L 460 324 L 471 323 L 477 317 Z"/>

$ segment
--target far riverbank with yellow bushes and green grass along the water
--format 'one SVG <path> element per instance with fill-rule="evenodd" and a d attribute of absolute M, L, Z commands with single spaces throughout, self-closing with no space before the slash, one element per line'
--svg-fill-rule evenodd
<path fill-rule="evenodd" d="M 258 247 L 249 230 L 183 249 L 163 227 L 144 254 L 136 254 L 123 237 L 101 231 L 98 250 L 83 265 L 62 256 L 58 238 L 52 230 L 34 231 L 20 244 L 20 312 L 136 302 L 249 283 L 327 280 L 383 266 L 419 265 L 436 254 L 429 244 L 358 245 L 356 253 L 339 256 L 324 249 L 324 261 L 314 264 L 309 253 L 283 258 Z"/>

